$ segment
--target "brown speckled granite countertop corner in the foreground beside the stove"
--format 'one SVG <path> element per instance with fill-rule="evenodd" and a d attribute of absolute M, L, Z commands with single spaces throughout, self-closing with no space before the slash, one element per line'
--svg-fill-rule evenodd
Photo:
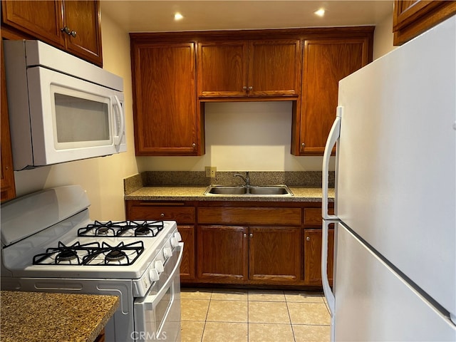
<path fill-rule="evenodd" d="M 0 340 L 95 341 L 120 305 L 117 296 L 1 291 Z"/>

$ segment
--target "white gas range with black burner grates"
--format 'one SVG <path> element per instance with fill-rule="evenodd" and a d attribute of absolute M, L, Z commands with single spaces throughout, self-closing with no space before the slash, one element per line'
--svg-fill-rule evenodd
<path fill-rule="evenodd" d="M 94 222 L 89 205 L 78 185 L 3 204 L 1 289 L 119 296 L 106 341 L 179 341 L 176 223 Z"/>

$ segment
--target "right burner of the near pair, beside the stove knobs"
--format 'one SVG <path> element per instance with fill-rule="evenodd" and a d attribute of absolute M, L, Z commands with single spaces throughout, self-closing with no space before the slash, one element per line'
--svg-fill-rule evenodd
<path fill-rule="evenodd" d="M 88 266 L 108 265 L 108 266 L 128 266 L 132 265 L 144 251 L 142 241 L 124 244 L 120 242 L 115 247 L 103 242 L 100 249 L 83 257 L 82 264 Z"/>

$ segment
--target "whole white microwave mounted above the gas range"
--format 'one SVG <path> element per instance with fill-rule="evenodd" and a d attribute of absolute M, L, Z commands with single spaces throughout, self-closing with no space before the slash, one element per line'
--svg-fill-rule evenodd
<path fill-rule="evenodd" d="M 125 152 L 123 79 L 41 41 L 4 41 L 14 170 Z"/>

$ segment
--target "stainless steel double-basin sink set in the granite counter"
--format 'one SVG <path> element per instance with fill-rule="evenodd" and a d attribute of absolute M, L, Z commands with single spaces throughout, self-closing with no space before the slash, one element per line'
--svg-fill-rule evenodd
<path fill-rule="evenodd" d="M 226 185 L 209 185 L 204 195 L 227 196 L 227 195 L 254 195 L 254 196 L 293 196 L 293 192 L 286 185 L 267 185 L 264 187 L 249 186 L 235 187 Z"/>

